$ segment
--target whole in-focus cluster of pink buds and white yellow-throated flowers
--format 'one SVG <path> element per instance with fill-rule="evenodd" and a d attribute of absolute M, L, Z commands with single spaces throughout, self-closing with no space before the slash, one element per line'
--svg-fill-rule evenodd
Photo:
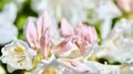
<path fill-rule="evenodd" d="M 57 34 L 51 34 L 51 29 L 52 22 L 47 12 L 37 21 L 29 18 L 24 31 L 28 43 L 14 39 L 2 49 L 1 61 L 8 64 L 8 71 L 29 71 L 25 74 L 94 73 L 83 62 L 98 41 L 95 29 L 82 22 L 72 29 L 62 19 L 59 42 L 54 38 Z"/>

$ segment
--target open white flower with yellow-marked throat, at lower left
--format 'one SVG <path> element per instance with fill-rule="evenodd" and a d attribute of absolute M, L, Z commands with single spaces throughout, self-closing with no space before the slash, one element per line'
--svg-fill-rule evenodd
<path fill-rule="evenodd" d="M 10 44 L 2 47 L 1 52 L 2 56 L 0 60 L 7 63 L 9 72 L 32 68 L 32 57 L 35 52 L 25 42 L 13 40 Z"/>

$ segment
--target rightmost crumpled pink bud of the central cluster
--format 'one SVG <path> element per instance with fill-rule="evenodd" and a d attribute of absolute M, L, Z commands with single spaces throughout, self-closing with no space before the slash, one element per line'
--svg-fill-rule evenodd
<path fill-rule="evenodd" d="M 85 54 L 91 44 L 98 40 L 94 28 L 84 25 L 81 22 L 75 28 L 75 34 L 78 35 L 76 45 L 80 47 L 81 54 Z"/>

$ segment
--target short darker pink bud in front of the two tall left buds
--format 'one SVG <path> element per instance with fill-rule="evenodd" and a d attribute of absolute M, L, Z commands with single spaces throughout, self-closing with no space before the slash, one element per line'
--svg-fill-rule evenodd
<path fill-rule="evenodd" d="M 41 45 L 41 51 L 44 57 L 48 57 L 49 52 L 50 52 L 50 30 L 45 29 L 43 35 L 40 39 L 40 45 Z"/>

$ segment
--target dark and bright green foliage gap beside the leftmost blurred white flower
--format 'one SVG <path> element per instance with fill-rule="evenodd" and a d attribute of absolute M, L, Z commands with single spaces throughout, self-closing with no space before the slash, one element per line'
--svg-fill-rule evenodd
<path fill-rule="evenodd" d="M 24 30 L 24 25 L 27 24 L 28 17 L 38 17 L 38 14 L 33 12 L 32 9 L 30 8 L 30 3 L 31 3 L 31 0 L 25 0 L 22 9 L 18 12 L 18 15 L 14 22 L 14 24 L 19 29 L 18 38 L 21 40 L 24 40 L 23 30 Z"/>

